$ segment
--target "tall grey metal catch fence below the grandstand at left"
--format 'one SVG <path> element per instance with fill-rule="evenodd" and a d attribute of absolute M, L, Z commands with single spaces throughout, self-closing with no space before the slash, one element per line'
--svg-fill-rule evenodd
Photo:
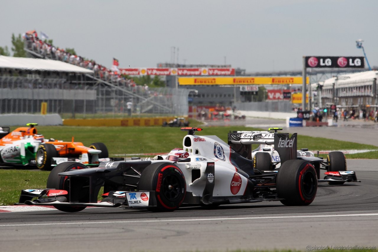
<path fill-rule="evenodd" d="M 189 90 L 109 86 L 101 81 L 39 76 L 0 76 L 0 114 L 47 113 L 62 118 L 119 118 L 187 115 Z M 130 104 L 129 104 L 130 105 Z"/>

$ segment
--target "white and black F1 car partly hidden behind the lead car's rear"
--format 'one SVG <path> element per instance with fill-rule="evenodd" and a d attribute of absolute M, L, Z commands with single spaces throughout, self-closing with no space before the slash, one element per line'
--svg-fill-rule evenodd
<path fill-rule="evenodd" d="M 341 151 L 328 153 L 327 160 L 315 157 L 307 148 L 297 150 L 297 134 L 290 138 L 288 133 L 277 133 L 282 128 L 270 128 L 269 131 L 234 131 L 228 134 L 228 143 L 243 157 L 253 160 L 256 170 L 263 172 L 278 171 L 288 156 L 310 162 L 317 173 L 318 182 L 330 185 L 342 185 L 345 182 L 361 182 L 354 171 L 347 171 L 345 155 Z M 252 145 L 258 144 L 252 150 Z M 320 169 L 326 170 L 324 179 L 320 179 Z"/>

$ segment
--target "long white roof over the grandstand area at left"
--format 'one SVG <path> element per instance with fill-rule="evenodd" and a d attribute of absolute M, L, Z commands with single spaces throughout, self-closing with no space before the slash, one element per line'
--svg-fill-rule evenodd
<path fill-rule="evenodd" d="M 32 71 L 57 71 L 70 73 L 93 73 L 93 70 L 52 59 L 33 59 L 0 56 L 0 68 L 15 68 Z"/>

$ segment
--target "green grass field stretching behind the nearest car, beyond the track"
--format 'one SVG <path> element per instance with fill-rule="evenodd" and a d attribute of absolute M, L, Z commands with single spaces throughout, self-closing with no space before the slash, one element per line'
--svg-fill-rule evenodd
<path fill-rule="evenodd" d="M 192 123 L 191 125 L 195 125 Z M 197 124 L 198 125 L 198 124 Z M 196 125 L 196 126 L 197 126 Z M 259 130 L 242 126 L 205 127 L 197 135 L 217 135 L 227 142 L 229 131 Z M 181 147 L 186 132 L 178 127 L 77 127 L 77 126 L 37 126 L 38 133 L 45 138 L 71 141 L 74 136 L 76 142 L 89 146 L 94 142 L 103 142 L 108 148 L 110 156 L 115 154 L 132 153 L 161 153 L 169 152 L 175 147 Z M 338 150 L 338 149 L 377 149 L 373 145 L 330 140 L 320 137 L 298 136 L 298 149 L 310 150 Z M 369 153 L 369 152 L 368 152 Z M 370 154 L 369 154 L 370 155 Z M 367 158 L 366 153 L 353 154 L 350 158 Z M 374 156 L 374 153 L 371 157 Z M 376 157 L 375 157 L 376 158 Z"/>

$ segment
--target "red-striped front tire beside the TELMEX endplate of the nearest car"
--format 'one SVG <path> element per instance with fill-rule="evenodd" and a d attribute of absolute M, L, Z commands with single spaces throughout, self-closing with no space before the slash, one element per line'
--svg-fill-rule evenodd
<path fill-rule="evenodd" d="M 153 163 L 144 169 L 138 191 L 155 191 L 157 206 L 148 208 L 152 212 L 177 210 L 186 194 L 184 174 L 172 163 Z"/>

